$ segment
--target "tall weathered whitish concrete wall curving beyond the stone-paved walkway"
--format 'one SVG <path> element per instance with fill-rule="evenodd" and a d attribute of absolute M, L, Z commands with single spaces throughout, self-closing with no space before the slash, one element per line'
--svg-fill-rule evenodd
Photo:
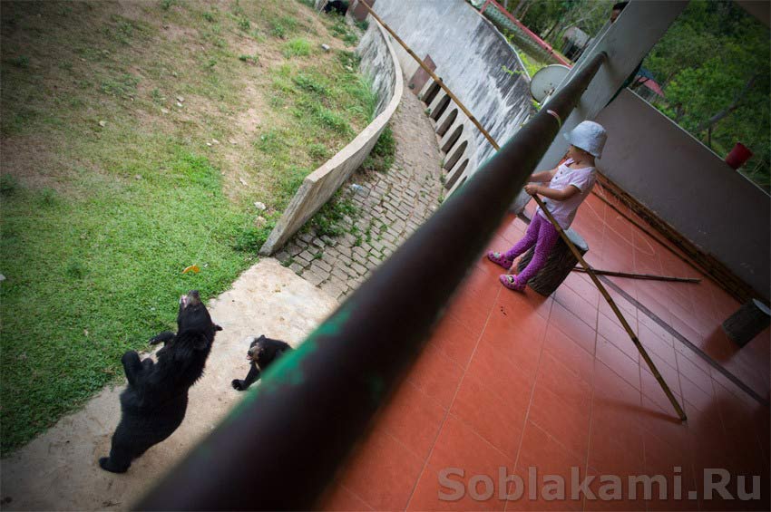
<path fill-rule="evenodd" d="M 431 55 L 436 75 L 500 145 L 519 130 L 531 108 L 530 79 L 506 38 L 471 5 L 377 0 L 374 9 L 417 55 Z M 405 76 L 413 76 L 418 64 L 401 46 L 394 47 Z M 473 130 L 473 140 L 480 162 L 493 154 L 479 130 Z"/>

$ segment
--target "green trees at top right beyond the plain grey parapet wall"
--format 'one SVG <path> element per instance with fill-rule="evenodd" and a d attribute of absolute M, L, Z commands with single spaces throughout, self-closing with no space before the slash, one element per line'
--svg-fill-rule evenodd
<path fill-rule="evenodd" d="M 654 105 L 721 157 L 743 142 L 754 153 L 746 172 L 766 190 L 768 38 L 768 29 L 737 5 L 694 0 L 643 63 L 666 95 Z"/>

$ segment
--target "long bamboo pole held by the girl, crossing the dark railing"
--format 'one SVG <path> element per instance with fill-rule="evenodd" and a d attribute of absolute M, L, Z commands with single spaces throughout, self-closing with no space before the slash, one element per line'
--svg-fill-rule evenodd
<path fill-rule="evenodd" d="M 380 19 L 380 17 L 375 14 L 375 11 L 372 10 L 372 7 L 370 7 L 365 0 L 359 0 L 359 2 L 366 7 L 366 10 L 369 11 L 369 14 L 372 15 L 373 18 L 376 19 L 377 23 L 381 24 L 383 28 L 388 32 L 388 34 L 391 34 L 397 43 L 401 44 L 401 46 L 405 49 L 407 53 L 410 54 L 410 56 L 415 59 L 415 62 L 422 67 L 425 72 L 431 76 L 431 78 L 434 79 L 434 82 L 438 83 L 439 86 L 444 90 L 444 92 L 447 93 L 450 98 L 455 101 L 455 104 L 458 105 L 458 108 L 460 108 L 464 113 L 468 116 L 469 120 L 471 120 L 484 135 L 485 139 L 487 139 L 488 142 L 493 146 L 493 148 L 497 151 L 501 149 L 501 146 L 498 145 L 498 143 L 493 139 L 493 137 L 488 133 L 487 130 L 484 130 L 483 126 L 479 123 L 479 121 L 476 120 L 475 117 L 473 117 L 472 113 L 466 109 L 463 102 L 458 100 L 458 98 L 453 94 L 452 91 L 450 91 L 446 85 L 444 85 L 444 82 L 442 82 L 442 79 L 440 79 L 438 76 L 434 74 L 433 71 L 431 71 L 428 66 L 425 65 L 425 63 L 415 54 L 415 52 L 412 51 L 412 49 L 406 45 L 404 41 L 402 41 L 398 35 L 394 33 L 393 30 L 391 30 L 391 27 L 389 27 L 383 20 Z M 548 103 L 547 103 L 548 106 Z M 551 116 L 554 117 L 555 121 L 560 123 L 560 126 L 562 125 L 562 120 L 559 116 L 559 113 L 554 111 L 548 111 Z M 600 290 L 600 294 L 602 294 L 603 297 L 605 297 L 605 300 L 610 305 L 610 309 L 613 310 L 613 313 L 616 314 L 616 316 L 619 318 L 619 321 L 621 325 L 624 327 L 624 330 L 629 334 L 629 338 L 631 339 L 632 343 L 635 344 L 635 347 L 637 347 L 637 350 L 639 354 L 642 356 L 642 359 L 645 360 L 645 362 L 648 364 L 648 367 L 650 369 L 650 372 L 653 373 L 653 376 L 656 378 L 656 381 L 659 382 L 659 385 L 661 386 L 661 389 L 664 390 L 664 393 L 667 395 L 667 398 L 669 398 L 669 401 L 672 403 L 672 407 L 674 407 L 675 411 L 677 411 L 678 416 L 680 420 L 687 420 L 685 411 L 683 411 L 683 408 L 680 407 L 680 404 L 678 400 L 675 398 L 675 395 L 672 394 L 672 390 L 669 389 L 669 385 L 667 385 L 667 382 L 664 381 L 664 378 L 661 376 L 661 373 L 659 373 L 659 370 L 656 368 L 656 364 L 650 359 L 650 356 L 648 355 L 648 352 L 645 350 L 645 347 L 642 346 L 642 343 L 639 343 L 639 339 L 637 337 L 637 334 L 632 331 L 631 327 L 629 326 L 629 323 L 627 322 L 626 318 L 624 318 L 624 315 L 621 314 L 619 310 L 619 306 L 616 305 L 616 303 L 613 301 L 613 298 L 608 293 L 608 290 L 605 289 L 605 286 L 602 285 L 600 282 L 600 279 L 597 277 L 597 275 L 592 271 L 591 267 L 588 263 L 583 259 L 583 256 L 581 256 L 581 253 L 576 248 L 576 246 L 573 245 L 571 242 L 571 239 L 565 235 L 565 232 L 560 227 L 559 223 L 554 220 L 554 217 L 551 216 L 551 212 L 546 209 L 546 205 L 543 204 L 543 201 L 541 198 L 539 198 L 537 195 L 532 196 L 533 199 L 535 199 L 535 202 L 538 203 L 538 206 L 541 207 L 543 213 L 546 215 L 546 217 L 549 219 L 551 224 L 554 226 L 554 228 L 557 230 L 557 233 L 559 233 L 562 240 L 565 242 L 565 244 L 568 246 L 568 248 L 571 249 L 571 252 L 573 253 L 573 256 L 576 257 L 576 259 L 581 263 L 581 266 L 586 270 L 586 273 L 589 274 L 592 282 L 595 286 Z"/>

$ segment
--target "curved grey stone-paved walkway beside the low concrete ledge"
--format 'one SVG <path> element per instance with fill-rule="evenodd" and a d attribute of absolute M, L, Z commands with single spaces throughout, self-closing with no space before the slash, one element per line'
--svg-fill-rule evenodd
<path fill-rule="evenodd" d="M 359 208 L 356 219 L 346 219 L 346 235 L 299 234 L 276 254 L 279 261 L 341 300 L 434 213 L 443 189 L 442 157 L 424 110 L 405 87 L 391 120 L 396 140 L 393 167 L 385 173 L 357 171 L 343 187 Z M 360 188 L 352 190 L 353 184 Z M 358 237 L 350 233 L 353 225 Z"/>

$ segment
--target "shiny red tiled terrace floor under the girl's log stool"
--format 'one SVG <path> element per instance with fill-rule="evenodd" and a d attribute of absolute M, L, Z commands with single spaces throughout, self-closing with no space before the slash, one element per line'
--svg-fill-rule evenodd
<path fill-rule="evenodd" d="M 590 196 L 585 206 L 573 227 L 590 242 L 592 265 L 700 276 L 597 198 Z M 512 218 L 503 222 L 492 248 L 522 236 L 525 225 Z M 768 509 L 767 483 L 756 502 L 630 500 L 626 487 L 629 475 L 660 474 L 670 484 L 680 478 L 688 498 L 688 491 L 703 490 L 704 469 L 771 474 L 768 408 L 682 341 L 768 396 L 768 331 L 739 350 L 719 327 L 737 310 L 734 299 L 707 278 L 698 285 L 610 278 L 638 301 L 633 304 L 608 287 L 688 413 L 682 422 L 587 275 L 572 273 L 554 295 L 542 297 L 529 288 L 524 294 L 504 289 L 497 281 L 501 273 L 480 255 L 324 507 Z M 512 490 L 513 475 L 526 481 L 531 466 L 539 476 L 565 477 L 571 468 L 581 478 L 612 473 L 624 478 L 624 494 L 620 500 L 550 501 L 541 496 L 541 480 L 536 499 L 503 499 Z M 502 467 L 503 498 L 498 495 Z M 463 469 L 463 476 L 440 481 L 440 471 L 450 468 Z M 474 492 L 483 493 L 489 482 L 490 498 L 473 497 L 468 484 L 476 475 Z M 451 494 L 458 486 L 464 498 L 439 499 L 440 492 Z M 590 488 L 598 493 L 599 478 Z"/>

